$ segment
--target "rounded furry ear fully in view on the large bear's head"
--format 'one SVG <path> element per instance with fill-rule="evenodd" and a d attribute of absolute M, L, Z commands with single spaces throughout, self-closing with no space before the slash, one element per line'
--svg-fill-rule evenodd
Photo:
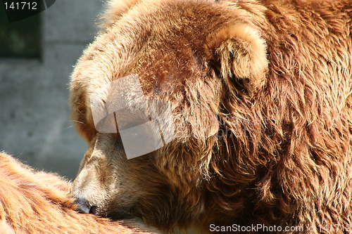
<path fill-rule="evenodd" d="M 228 85 L 230 79 L 247 79 L 251 89 L 265 83 L 268 60 L 265 40 L 253 27 L 236 24 L 209 34 L 206 39 L 208 59 L 215 64 Z"/>

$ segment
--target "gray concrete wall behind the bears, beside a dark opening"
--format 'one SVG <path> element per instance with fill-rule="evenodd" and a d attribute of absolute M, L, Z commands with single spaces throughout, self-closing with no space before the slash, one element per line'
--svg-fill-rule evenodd
<path fill-rule="evenodd" d="M 0 60 L 0 150 L 74 178 L 87 144 L 70 122 L 68 82 L 96 34 L 98 0 L 58 0 L 42 14 L 42 61 Z"/>

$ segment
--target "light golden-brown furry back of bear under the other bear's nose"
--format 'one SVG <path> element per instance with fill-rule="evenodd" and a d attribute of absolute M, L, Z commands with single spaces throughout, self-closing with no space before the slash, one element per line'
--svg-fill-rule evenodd
<path fill-rule="evenodd" d="M 132 221 L 75 212 L 70 183 L 0 152 L 0 233 L 156 233 Z"/>

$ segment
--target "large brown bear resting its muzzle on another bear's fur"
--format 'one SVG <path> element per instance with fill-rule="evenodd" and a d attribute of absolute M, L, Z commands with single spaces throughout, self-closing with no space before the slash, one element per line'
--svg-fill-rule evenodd
<path fill-rule="evenodd" d="M 73 183 L 82 212 L 165 231 L 348 233 L 351 0 L 116 0 L 101 25 L 70 83 L 89 144 Z M 130 75 L 168 103 L 174 136 L 127 159 L 119 122 L 153 109 Z M 105 131 L 94 109 L 119 100 Z"/>

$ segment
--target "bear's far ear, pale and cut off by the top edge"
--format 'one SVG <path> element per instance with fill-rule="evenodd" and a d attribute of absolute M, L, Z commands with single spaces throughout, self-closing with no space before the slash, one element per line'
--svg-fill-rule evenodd
<path fill-rule="evenodd" d="M 106 10 L 101 15 L 101 27 L 109 27 L 140 0 L 110 0 L 106 4 Z"/>

